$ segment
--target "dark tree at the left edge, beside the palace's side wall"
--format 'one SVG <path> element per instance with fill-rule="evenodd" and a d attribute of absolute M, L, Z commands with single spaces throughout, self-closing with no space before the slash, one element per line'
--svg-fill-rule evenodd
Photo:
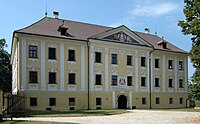
<path fill-rule="evenodd" d="M 0 89 L 11 91 L 12 89 L 12 66 L 10 54 L 5 50 L 6 40 L 0 39 Z"/>

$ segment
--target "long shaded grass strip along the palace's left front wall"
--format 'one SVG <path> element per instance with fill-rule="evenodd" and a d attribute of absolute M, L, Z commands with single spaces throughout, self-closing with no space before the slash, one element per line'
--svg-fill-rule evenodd
<path fill-rule="evenodd" d="M 28 117 L 81 117 L 98 115 L 116 115 L 126 113 L 126 110 L 66 110 L 66 111 L 26 111 Z"/>

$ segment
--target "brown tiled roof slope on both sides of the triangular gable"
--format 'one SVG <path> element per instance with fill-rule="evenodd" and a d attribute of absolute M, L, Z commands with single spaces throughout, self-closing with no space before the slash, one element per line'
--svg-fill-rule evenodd
<path fill-rule="evenodd" d="M 64 25 L 68 27 L 67 32 L 70 35 L 72 35 L 72 37 L 63 36 L 58 31 L 58 27 L 63 25 L 63 22 L 64 22 Z M 113 29 L 112 27 L 106 27 L 106 26 L 70 21 L 70 20 L 63 21 L 63 19 L 45 17 L 28 27 L 17 30 L 16 32 L 44 35 L 44 36 L 53 36 L 53 37 L 60 37 L 60 38 L 87 40 L 87 38 L 91 36 L 94 36 L 99 33 L 103 33 L 112 29 Z M 133 31 L 133 32 L 135 32 L 138 36 L 140 36 L 141 38 L 146 40 L 148 43 L 150 43 L 152 46 L 154 46 L 154 49 L 187 53 L 186 51 L 181 50 L 180 48 L 170 44 L 169 42 L 167 43 L 167 49 L 163 49 L 162 46 L 157 45 L 157 42 L 163 40 L 162 38 L 158 36 L 136 32 L 136 31 Z"/>

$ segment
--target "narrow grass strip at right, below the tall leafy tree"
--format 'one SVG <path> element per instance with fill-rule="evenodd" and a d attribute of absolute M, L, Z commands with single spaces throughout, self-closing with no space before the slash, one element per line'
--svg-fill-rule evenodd
<path fill-rule="evenodd" d="M 161 111 L 183 111 L 183 112 L 200 112 L 200 109 L 194 109 L 194 108 L 151 109 L 151 110 L 161 110 Z"/>

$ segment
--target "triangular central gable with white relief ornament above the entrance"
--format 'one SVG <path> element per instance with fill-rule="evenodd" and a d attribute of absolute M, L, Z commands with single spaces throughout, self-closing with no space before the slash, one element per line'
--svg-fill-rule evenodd
<path fill-rule="evenodd" d="M 142 39 L 140 36 L 138 36 L 136 33 L 131 31 L 124 25 L 119 26 L 117 28 L 113 28 L 112 30 L 103 32 L 101 34 L 92 36 L 91 38 L 108 40 L 112 42 L 129 43 L 134 45 L 145 45 L 151 47 L 151 45 L 148 42 L 146 42 L 144 39 Z"/>

